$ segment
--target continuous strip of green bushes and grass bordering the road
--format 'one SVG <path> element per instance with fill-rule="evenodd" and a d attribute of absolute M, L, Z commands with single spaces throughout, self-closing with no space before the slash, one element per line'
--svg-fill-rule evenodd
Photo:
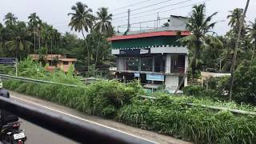
<path fill-rule="evenodd" d="M 58 70 L 50 73 L 30 58 L 20 63 L 19 70 L 22 71 L 19 73 L 22 77 L 81 87 L 8 80 L 3 82 L 5 88 L 68 106 L 86 114 L 111 118 L 130 126 L 154 130 L 186 141 L 238 144 L 256 142 L 255 116 L 232 114 L 229 111 L 211 110 L 187 104 L 205 104 L 250 111 L 255 111 L 254 106 L 222 102 L 217 98 L 202 96 L 172 96 L 163 92 L 155 93 L 157 99 L 142 98 L 141 95 L 144 95 L 145 91 L 137 82 L 124 84 L 102 80 L 85 85 L 79 77 L 72 74 L 72 70 L 68 74 Z M 6 74 L 14 74 L 14 72 L 10 70 L 6 71 Z M 198 92 L 185 90 L 185 93 L 197 95 Z"/>

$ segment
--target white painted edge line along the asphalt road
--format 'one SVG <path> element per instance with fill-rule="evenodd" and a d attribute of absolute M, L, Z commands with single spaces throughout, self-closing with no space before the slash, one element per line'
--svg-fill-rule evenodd
<path fill-rule="evenodd" d="M 130 136 L 133 136 L 133 137 L 135 137 L 135 138 L 140 138 L 140 139 L 143 139 L 143 140 L 148 141 L 148 142 L 153 142 L 153 143 L 156 143 L 156 144 L 158 143 L 158 142 L 150 141 L 150 140 L 148 140 L 148 139 L 146 139 L 146 138 L 139 137 L 139 136 L 134 135 L 134 134 L 129 134 L 129 133 L 126 133 L 126 132 L 124 132 L 124 131 L 114 129 L 114 128 L 110 127 L 110 126 L 102 125 L 102 124 L 100 124 L 100 123 L 98 123 L 98 122 L 93 122 L 93 121 L 90 121 L 90 120 L 87 120 L 87 119 L 84 119 L 84 118 L 79 118 L 79 117 L 77 117 L 77 116 L 75 116 L 75 115 L 72 115 L 72 114 L 65 113 L 65 112 L 60 111 L 60 110 L 55 110 L 55 109 L 50 108 L 50 107 L 47 107 L 47 106 L 42 106 L 42 105 L 40 105 L 40 104 L 38 104 L 38 103 L 30 102 L 30 101 L 28 101 L 28 100 L 26 100 L 26 99 L 17 98 L 17 97 L 15 97 L 15 96 L 13 96 L 13 95 L 10 95 L 10 97 L 16 98 L 16 99 L 21 100 L 21 101 L 23 101 L 23 102 L 32 103 L 32 104 L 34 104 L 34 105 L 36 105 L 36 106 L 41 106 L 41 107 L 46 108 L 46 109 L 48 109 L 48 110 L 53 110 L 53 111 L 58 112 L 58 113 L 60 113 L 60 114 L 66 114 L 66 115 L 68 115 L 68 116 L 70 116 L 70 117 L 72 117 L 72 118 L 77 118 L 77 119 L 82 120 L 82 121 L 85 121 L 85 122 L 90 122 L 90 123 L 93 123 L 93 124 L 98 125 L 98 126 L 103 126 L 103 127 L 106 127 L 106 128 L 108 128 L 108 129 L 110 129 L 110 130 L 118 131 L 118 132 L 120 132 L 120 133 L 122 133 L 122 134 L 128 134 L 128 135 L 130 135 Z"/>

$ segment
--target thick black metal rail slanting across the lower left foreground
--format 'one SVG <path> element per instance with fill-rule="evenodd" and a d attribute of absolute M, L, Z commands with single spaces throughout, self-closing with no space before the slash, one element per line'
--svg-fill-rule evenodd
<path fill-rule="evenodd" d="M 81 143 L 154 143 L 92 122 L 81 122 L 48 110 L 0 97 L 0 109 Z"/>

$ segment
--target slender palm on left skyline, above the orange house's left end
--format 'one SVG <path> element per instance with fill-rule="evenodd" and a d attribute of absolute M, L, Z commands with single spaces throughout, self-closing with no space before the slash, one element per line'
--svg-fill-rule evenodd
<path fill-rule="evenodd" d="M 30 14 L 28 19 L 29 19 L 30 30 L 32 30 L 32 33 L 34 34 L 34 52 L 35 52 L 35 49 L 36 49 L 36 34 L 38 34 L 38 26 L 39 26 L 39 22 L 41 20 L 40 20 L 40 18 L 38 17 L 38 15 L 36 13 Z"/>

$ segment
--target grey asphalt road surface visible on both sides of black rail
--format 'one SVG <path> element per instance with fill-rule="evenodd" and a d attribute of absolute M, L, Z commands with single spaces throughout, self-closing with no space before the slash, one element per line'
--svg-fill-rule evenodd
<path fill-rule="evenodd" d="M 114 122 L 112 120 L 99 118 L 96 116 L 91 116 L 88 114 L 83 114 L 77 110 L 72 110 L 65 106 L 59 106 L 52 102 L 46 102 L 42 99 L 26 96 L 24 94 L 18 94 L 14 91 L 10 91 L 10 99 L 18 102 L 22 102 L 26 105 L 36 106 L 44 110 L 50 110 L 58 114 L 63 114 L 66 117 L 75 118 L 83 122 L 94 122 L 98 125 L 105 126 L 110 129 L 122 131 L 122 133 L 133 135 L 134 137 L 143 138 L 150 142 L 155 143 L 168 143 L 168 144 L 190 144 L 190 142 L 184 142 L 176 138 L 165 136 L 162 134 L 157 134 L 147 130 L 141 130 L 134 128 L 132 126 L 126 126 L 119 122 Z M 30 122 L 22 120 L 22 128 L 25 129 L 25 134 L 27 136 L 26 144 L 75 144 L 77 142 L 71 141 L 68 138 L 63 138 L 58 134 L 54 134 L 49 130 L 45 130 L 42 127 L 35 126 Z"/>

